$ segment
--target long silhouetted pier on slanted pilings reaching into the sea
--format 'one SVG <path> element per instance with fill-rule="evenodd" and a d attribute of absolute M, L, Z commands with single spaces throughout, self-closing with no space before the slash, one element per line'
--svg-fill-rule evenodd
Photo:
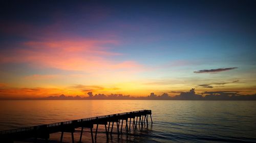
<path fill-rule="evenodd" d="M 104 125 L 106 139 L 109 139 L 109 134 L 113 133 L 113 127 L 116 126 L 117 133 L 122 132 L 123 124 L 125 122 L 125 132 L 137 129 L 138 126 L 143 127 L 148 125 L 148 116 L 150 115 L 151 124 L 152 111 L 151 110 L 138 110 L 132 112 L 116 113 L 113 115 L 98 116 L 93 118 L 78 119 L 66 122 L 59 122 L 53 124 L 18 128 L 12 130 L 0 131 L 0 142 L 13 142 L 15 140 L 23 140 L 26 138 L 34 138 L 34 142 L 37 142 L 37 138 L 45 139 L 48 142 L 51 133 L 61 132 L 60 142 L 62 142 L 63 133 L 71 133 L 72 142 L 74 143 L 74 132 L 76 128 L 81 128 L 79 141 L 81 142 L 83 129 L 89 128 L 91 130 L 92 142 L 96 142 L 98 126 Z M 121 124 L 121 125 L 120 125 Z M 132 125 L 131 125 L 132 124 Z M 93 127 L 96 125 L 95 135 L 93 135 Z M 111 129 L 110 129 L 111 128 Z"/>

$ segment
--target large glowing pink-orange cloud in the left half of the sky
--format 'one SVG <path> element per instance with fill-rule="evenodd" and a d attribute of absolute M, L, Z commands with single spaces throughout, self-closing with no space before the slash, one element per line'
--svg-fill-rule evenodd
<path fill-rule="evenodd" d="M 109 45 L 118 44 L 115 40 L 93 40 L 69 38 L 62 40 L 29 41 L 17 45 L 19 48 L 3 49 L 0 64 L 28 64 L 34 68 L 55 68 L 67 71 L 88 73 L 112 70 L 140 71 L 142 65 L 135 61 L 116 61 Z"/>

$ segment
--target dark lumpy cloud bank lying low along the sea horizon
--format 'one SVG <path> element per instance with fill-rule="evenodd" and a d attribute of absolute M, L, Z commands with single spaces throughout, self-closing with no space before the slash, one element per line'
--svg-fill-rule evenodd
<path fill-rule="evenodd" d="M 80 97 L 80 96 L 49 96 L 45 98 L 34 98 L 36 100 L 256 100 L 256 94 L 254 95 L 241 95 L 239 91 L 217 91 L 217 92 L 204 92 L 196 94 L 195 89 L 191 89 L 189 92 L 181 92 L 179 95 L 174 97 L 168 96 L 167 93 L 162 95 L 155 95 L 151 93 L 147 97 L 131 97 L 130 95 L 122 94 L 96 94 L 93 95 L 92 92 L 89 92 L 89 97 Z"/>

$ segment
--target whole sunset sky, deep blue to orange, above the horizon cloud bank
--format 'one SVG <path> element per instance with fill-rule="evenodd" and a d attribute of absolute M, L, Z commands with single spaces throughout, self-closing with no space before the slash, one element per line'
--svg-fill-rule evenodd
<path fill-rule="evenodd" d="M 0 98 L 256 93 L 255 1 L 1 1 Z"/>

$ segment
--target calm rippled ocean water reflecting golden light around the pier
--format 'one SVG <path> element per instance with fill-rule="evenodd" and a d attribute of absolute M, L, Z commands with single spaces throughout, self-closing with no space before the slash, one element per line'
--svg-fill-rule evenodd
<path fill-rule="evenodd" d="M 123 129 L 109 142 L 256 142 L 256 101 L 2 100 L 0 130 L 141 109 L 152 110 L 153 125 L 131 133 Z M 104 126 L 98 131 L 97 142 L 106 142 Z M 49 142 L 59 140 L 60 133 L 50 135 Z M 71 142 L 70 133 L 64 133 L 63 142 Z M 89 129 L 82 142 L 91 142 Z"/>

